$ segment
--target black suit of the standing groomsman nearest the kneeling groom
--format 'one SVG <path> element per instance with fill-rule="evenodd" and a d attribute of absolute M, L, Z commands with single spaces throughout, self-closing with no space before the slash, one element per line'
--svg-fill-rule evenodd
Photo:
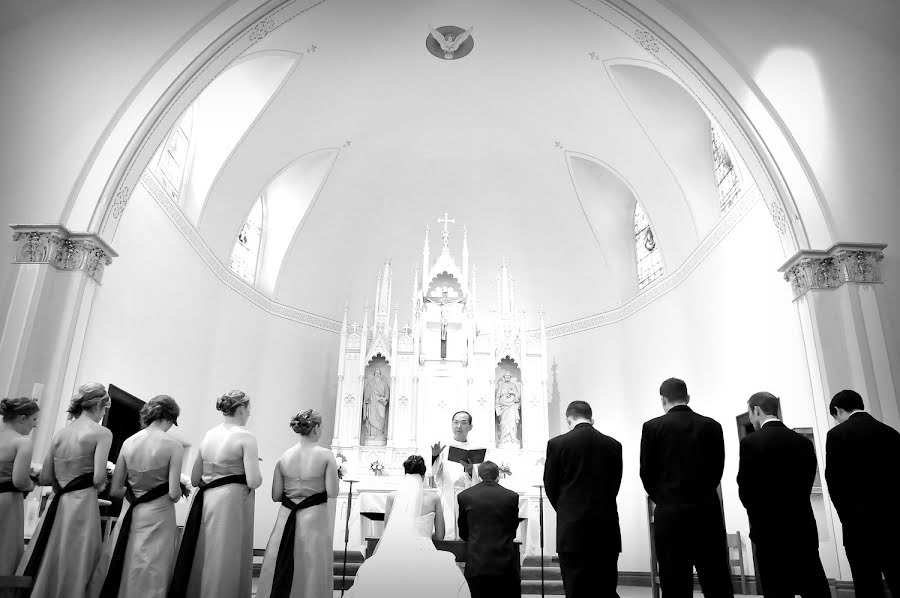
<path fill-rule="evenodd" d="M 621 483 L 622 445 L 591 424 L 547 443 L 544 487 L 556 509 L 556 551 L 568 598 L 617 595 Z"/>

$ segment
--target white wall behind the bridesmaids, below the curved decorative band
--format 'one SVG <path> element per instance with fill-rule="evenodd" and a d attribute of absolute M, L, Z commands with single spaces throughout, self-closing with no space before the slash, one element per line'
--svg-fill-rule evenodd
<path fill-rule="evenodd" d="M 249 393 L 248 427 L 263 459 L 255 546 L 264 547 L 277 513 L 272 470 L 297 441 L 290 418 L 319 410 L 322 444 L 331 441 L 339 337 L 255 307 L 215 277 L 143 188 L 132 202 L 118 236 L 122 256 L 94 302 L 78 380 L 113 383 L 143 400 L 172 395 L 182 408 L 177 433 L 194 444 L 185 471 L 220 421 L 216 398 L 232 388 Z"/>

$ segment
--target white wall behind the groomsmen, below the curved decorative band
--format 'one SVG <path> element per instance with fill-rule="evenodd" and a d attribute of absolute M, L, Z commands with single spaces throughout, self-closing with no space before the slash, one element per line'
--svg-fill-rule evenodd
<path fill-rule="evenodd" d="M 644 421 L 662 414 L 663 380 L 684 379 L 691 407 L 722 425 L 726 526 L 745 537 L 749 524 L 737 496 L 735 417 L 746 411 L 751 394 L 768 390 L 782 397 L 789 427 L 816 427 L 796 309 L 790 288 L 775 272 L 780 259 L 775 229 L 760 203 L 675 291 L 628 320 L 551 341 L 551 434 L 554 427 L 566 429 L 569 402 L 586 400 L 597 428 L 623 445 L 620 570 L 649 570 L 640 435 Z M 822 456 L 824 439 L 817 440 Z M 823 525 L 820 534 L 823 564 L 837 577 L 833 532 Z"/>

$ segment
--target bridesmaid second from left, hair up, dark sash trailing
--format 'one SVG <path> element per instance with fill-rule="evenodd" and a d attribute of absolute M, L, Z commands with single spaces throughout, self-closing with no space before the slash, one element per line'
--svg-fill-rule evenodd
<path fill-rule="evenodd" d="M 74 421 L 57 432 L 41 470 L 53 497 L 38 521 L 16 575 L 34 578 L 33 598 L 82 598 L 100 557 L 97 491 L 106 486 L 112 432 L 100 425 L 106 388 L 91 382 L 69 405 Z"/>

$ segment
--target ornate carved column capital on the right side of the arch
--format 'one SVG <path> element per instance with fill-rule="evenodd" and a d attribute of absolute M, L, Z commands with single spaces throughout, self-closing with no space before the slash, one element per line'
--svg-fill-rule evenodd
<path fill-rule="evenodd" d="M 778 271 L 791 284 L 794 299 L 813 289 L 836 289 L 846 282 L 881 283 L 884 243 L 835 243 L 825 251 L 797 252 Z"/>

